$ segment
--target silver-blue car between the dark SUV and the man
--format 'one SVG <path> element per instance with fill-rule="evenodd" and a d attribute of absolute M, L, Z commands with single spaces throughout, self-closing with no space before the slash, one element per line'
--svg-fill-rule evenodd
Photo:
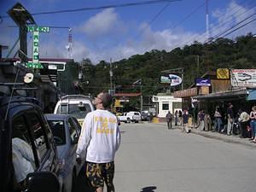
<path fill-rule="evenodd" d="M 76 163 L 76 150 L 81 132 L 79 121 L 69 114 L 45 114 L 58 151 L 62 191 L 75 191 L 76 177 L 82 166 Z"/>

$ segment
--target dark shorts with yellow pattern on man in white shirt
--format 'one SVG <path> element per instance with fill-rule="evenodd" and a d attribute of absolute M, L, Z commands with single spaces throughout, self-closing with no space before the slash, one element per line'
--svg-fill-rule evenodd
<path fill-rule="evenodd" d="M 86 176 L 93 188 L 107 185 L 108 191 L 114 191 L 113 187 L 114 163 L 86 162 Z"/>

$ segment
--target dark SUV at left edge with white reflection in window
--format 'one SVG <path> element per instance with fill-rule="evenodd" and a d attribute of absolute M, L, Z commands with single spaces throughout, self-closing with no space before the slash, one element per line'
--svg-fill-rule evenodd
<path fill-rule="evenodd" d="M 34 101 L 0 96 L 0 191 L 61 189 L 54 138 Z M 24 151 L 30 159 L 21 155 Z"/>

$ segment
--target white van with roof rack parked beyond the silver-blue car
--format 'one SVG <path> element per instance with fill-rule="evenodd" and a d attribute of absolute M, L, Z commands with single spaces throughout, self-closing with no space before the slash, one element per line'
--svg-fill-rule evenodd
<path fill-rule="evenodd" d="M 71 114 L 82 126 L 86 114 L 94 110 L 90 96 L 67 95 L 57 102 L 54 113 Z"/>

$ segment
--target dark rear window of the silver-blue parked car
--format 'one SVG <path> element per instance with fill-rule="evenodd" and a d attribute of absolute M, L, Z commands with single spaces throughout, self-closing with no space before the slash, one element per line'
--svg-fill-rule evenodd
<path fill-rule="evenodd" d="M 57 146 L 64 145 L 66 143 L 65 126 L 63 120 L 48 120 L 50 129 L 55 138 L 55 144 Z"/>

